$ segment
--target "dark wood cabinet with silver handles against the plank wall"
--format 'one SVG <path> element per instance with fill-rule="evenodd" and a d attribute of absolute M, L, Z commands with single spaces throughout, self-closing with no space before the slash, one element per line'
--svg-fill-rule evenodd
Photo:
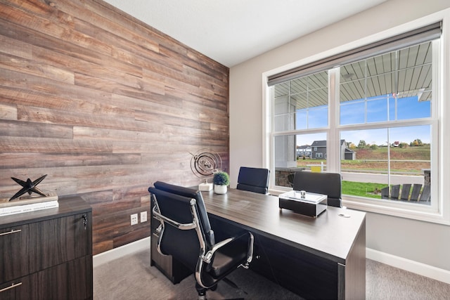
<path fill-rule="evenodd" d="M 92 299 L 92 209 L 79 197 L 0 218 L 0 299 Z"/>

